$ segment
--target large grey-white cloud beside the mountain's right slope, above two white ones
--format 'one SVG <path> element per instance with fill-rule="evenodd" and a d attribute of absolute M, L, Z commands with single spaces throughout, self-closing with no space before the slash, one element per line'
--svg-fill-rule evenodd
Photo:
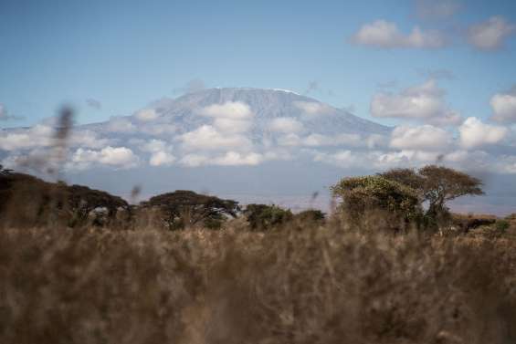
<path fill-rule="evenodd" d="M 376 93 L 371 101 L 374 117 L 423 120 L 437 125 L 458 124 L 462 118 L 449 109 L 445 92 L 430 79 L 423 85 L 410 87 L 399 94 Z"/>

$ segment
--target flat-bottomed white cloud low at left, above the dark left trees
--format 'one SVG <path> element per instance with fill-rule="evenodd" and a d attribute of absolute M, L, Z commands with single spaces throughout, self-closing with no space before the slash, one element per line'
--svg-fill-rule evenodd
<path fill-rule="evenodd" d="M 92 165 L 108 165 L 115 168 L 131 168 L 138 164 L 138 157 L 126 147 L 108 146 L 100 151 L 79 148 L 67 164 L 68 169 L 84 170 Z"/>

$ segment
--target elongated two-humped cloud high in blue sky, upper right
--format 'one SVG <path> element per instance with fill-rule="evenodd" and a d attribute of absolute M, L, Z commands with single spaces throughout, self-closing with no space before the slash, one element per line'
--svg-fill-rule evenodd
<path fill-rule="evenodd" d="M 416 26 L 410 34 L 405 35 L 395 23 L 385 20 L 363 25 L 351 41 L 357 45 L 380 48 L 437 48 L 446 45 L 445 37 L 436 30 L 421 30 Z"/>

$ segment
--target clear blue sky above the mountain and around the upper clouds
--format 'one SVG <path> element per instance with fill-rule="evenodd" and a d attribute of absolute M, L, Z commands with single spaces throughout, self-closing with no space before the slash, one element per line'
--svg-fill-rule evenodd
<path fill-rule="evenodd" d="M 420 2 L 419 5 L 425 2 Z M 418 15 L 417 1 L 19 1 L 0 0 L 2 127 L 32 125 L 63 103 L 79 122 L 131 114 L 174 97 L 192 79 L 206 87 L 292 89 L 373 118 L 381 85 L 397 92 L 437 80 L 449 106 L 488 119 L 491 97 L 516 84 L 516 40 L 481 50 L 468 28 L 491 16 L 516 22 L 514 1 L 445 1 L 452 15 Z M 423 4 L 425 5 L 425 4 Z M 408 34 L 415 26 L 447 37 L 446 47 L 374 47 L 350 37 L 376 20 Z M 442 73 L 441 73 L 442 74 Z M 100 102 L 100 109 L 86 99 Z"/>

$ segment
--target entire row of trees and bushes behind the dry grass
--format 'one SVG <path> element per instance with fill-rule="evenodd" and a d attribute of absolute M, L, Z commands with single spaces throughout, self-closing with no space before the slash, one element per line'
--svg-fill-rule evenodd
<path fill-rule="evenodd" d="M 381 227 L 395 233 L 411 229 L 436 232 L 456 225 L 467 231 L 492 224 L 494 219 L 457 221 L 448 202 L 464 195 L 482 194 L 481 186 L 479 179 L 467 173 L 436 165 L 343 178 L 332 186 L 332 194 L 339 203 L 330 218 L 361 230 Z M 322 224 L 328 220 L 319 210 L 293 214 L 278 205 L 241 206 L 234 200 L 184 190 L 130 204 L 87 186 L 45 182 L 0 166 L 0 223 L 4 226 L 152 226 L 174 231 L 195 227 L 219 229 L 235 218 L 244 219 L 252 231 L 291 223 Z"/>

